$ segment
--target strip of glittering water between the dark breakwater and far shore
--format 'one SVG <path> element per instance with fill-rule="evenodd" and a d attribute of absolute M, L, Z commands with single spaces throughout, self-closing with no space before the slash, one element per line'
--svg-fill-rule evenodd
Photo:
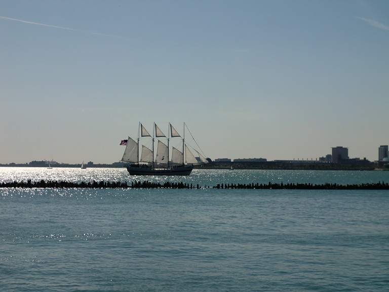
<path fill-rule="evenodd" d="M 389 171 L 342 170 L 228 170 L 194 169 L 189 176 L 137 176 L 129 175 L 125 168 L 32 168 L 0 167 L 0 181 L 155 181 L 185 182 L 187 184 L 216 186 L 217 184 L 267 184 L 268 182 L 310 184 L 361 184 L 389 181 Z"/>

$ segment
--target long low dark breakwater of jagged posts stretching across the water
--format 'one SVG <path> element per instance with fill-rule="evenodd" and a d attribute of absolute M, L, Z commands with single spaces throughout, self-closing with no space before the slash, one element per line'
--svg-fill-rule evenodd
<path fill-rule="evenodd" d="M 10 181 L 1 182 L 0 188 L 87 188 L 87 189 L 202 189 L 199 184 L 187 184 L 185 182 L 151 182 L 151 181 L 133 181 L 131 184 L 115 181 L 91 181 L 91 182 L 70 182 L 57 180 L 40 180 L 40 181 Z M 203 188 L 210 188 L 205 186 Z M 389 184 L 386 182 L 377 182 L 358 185 L 339 185 L 339 184 L 280 184 L 268 182 L 268 184 L 217 184 L 214 189 L 276 189 L 276 190 L 389 190 Z"/>

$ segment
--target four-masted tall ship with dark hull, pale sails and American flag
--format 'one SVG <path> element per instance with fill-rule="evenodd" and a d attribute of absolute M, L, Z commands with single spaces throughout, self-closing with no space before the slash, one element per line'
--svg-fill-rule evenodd
<path fill-rule="evenodd" d="M 150 135 L 139 123 L 138 138 L 135 141 L 128 137 L 121 161 L 128 163 L 125 166 L 131 175 L 189 175 L 195 165 L 206 164 L 208 160 L 195 149 L 193 151 L 197 152 L 198 159 L 192 154 L 185 142 L 185 128 L 187 129 L 184 123 L 181 136 L 169 123 L 169 133 L 166 136 L 154 123 L 153 133 Z M 187 131 L 190 133 L 188 129 Z M 172 140 L 177 142 L 177 139 L 180 139 L 180 147 L 170 145 Z M 146 147 L 146 142 L 147 145 L 151 143 L 151 146 Z M 196 141 L 195 143 L 197 145 Z M 157 151 L 154 151 L 154 144 L 157 144 Z M 197 147 L 200 149 L 198 145 Z"/>

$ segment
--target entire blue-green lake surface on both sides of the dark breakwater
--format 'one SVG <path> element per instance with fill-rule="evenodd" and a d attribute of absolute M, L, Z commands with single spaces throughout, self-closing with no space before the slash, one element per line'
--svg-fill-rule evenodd
<path fill-rule="evenodd" d="M 388 191 L 212 188 L 387 182 L 388 171 L 0 168 L 0 181 L 27 179 L 202 189 L 0 189 L 2 291 L 388 291 Z"/>

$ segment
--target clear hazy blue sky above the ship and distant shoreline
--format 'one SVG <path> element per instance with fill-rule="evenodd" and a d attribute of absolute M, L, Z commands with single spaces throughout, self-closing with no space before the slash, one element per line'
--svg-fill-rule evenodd
<path fill-rule="evenodd" d="M 0 0 L 0 163 L 120 161 L 141 122 L 206 157 L 378 159 L 389 1 Z"/>

